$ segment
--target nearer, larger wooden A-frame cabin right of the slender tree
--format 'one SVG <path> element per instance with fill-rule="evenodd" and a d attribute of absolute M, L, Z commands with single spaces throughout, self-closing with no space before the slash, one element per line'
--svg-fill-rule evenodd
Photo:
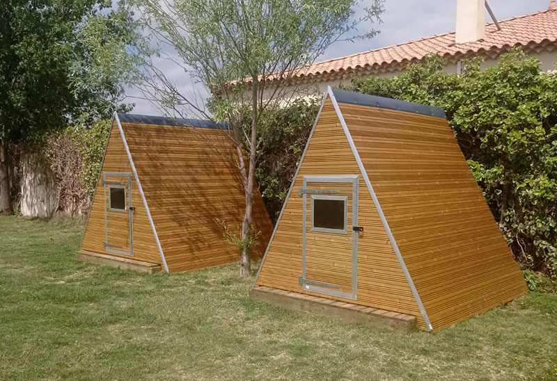
<path fill-rule="evenodd" d="M 251 295 L 437 331 L 527 291 L 444 111 L 329 88 Z"/>

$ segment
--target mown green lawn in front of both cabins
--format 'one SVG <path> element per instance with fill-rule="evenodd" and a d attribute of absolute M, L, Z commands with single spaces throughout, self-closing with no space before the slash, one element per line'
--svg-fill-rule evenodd
<path fill-rule="evenodd" d="M 0 379 L 557 380 L 557 295 L 403 336 L 253 302 L 236 264 L 78 263 L 80 239 L 0 216 Z"/>

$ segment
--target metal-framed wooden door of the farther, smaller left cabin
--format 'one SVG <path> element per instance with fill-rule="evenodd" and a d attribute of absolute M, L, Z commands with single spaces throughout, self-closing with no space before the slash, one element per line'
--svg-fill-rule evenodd
<path fill-rule="evenodd" d="M 104 172 L 104 248 L 114 254 L 133 255 L 132 174 Z"/>

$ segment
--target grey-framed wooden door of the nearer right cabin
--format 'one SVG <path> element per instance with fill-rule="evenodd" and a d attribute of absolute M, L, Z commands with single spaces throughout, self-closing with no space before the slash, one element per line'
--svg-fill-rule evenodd
<path fill-rule="evenodd" d="M 302 289 L 356 300 L 358 187 L 359 176 L 304 176 Z"/>

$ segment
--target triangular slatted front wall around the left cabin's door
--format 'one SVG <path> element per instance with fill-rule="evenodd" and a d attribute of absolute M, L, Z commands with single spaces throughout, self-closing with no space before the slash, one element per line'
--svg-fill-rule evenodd
<path fill-rule="evenodd" d="M 152 262 L 155 264 L 161 263 L 161 257 L 159 250 L 157 249 L 157 243 L 155 243 L 155 236 L 152 234 L 151 225 L 147 218 L 147 213 L 145 207 L 143 206 L 143 200 L 141 200 L 141 195 L 139 193 L 139 188 L 137 187 L 134 175 L 132 173 L 132 167 L 130 161 L 127 159 L 127 154 L 125 152 L 124 143 L 120 137 L 120 131 L 118 131 L 118 126 L 116 123 L 113 124 L 109 144 L 107 147 L 107 154 L 104 156 L 104 162 L 101 168 L 101 177 L 103 172 L 130 172 L 132 174 L 132 204 L 135 206 L 136 211 L 134 213 L 134 259 L 140 261 Z M 127 235 L 129 234 L 129 229 L 126 223 L 122 226 L 120 232 L 117 234 Z M 81 250 L 87 250 L 90 252 L 98 252 L 101 254 L 114 255 L 116 257 L 130 258 L 127 255 L 119 255 L 109 253 L 104 250 L 104 186 L 99 182 L 97 184 L 97 190 L 95 191 L 95 197 L 93 198 L 93 205 L 91 206 L 91 212 L 89 213 L 89 219 L 87 222 L 87 228 L 84 235 L 83 243 L 81 243 Z"/>

